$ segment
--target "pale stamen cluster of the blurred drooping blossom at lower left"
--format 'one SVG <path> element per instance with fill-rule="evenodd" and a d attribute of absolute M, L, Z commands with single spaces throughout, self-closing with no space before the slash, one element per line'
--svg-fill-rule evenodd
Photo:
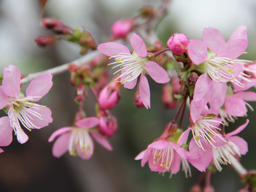
<path fill-rule="evenodd" d="M 93 154 L 93 140 L 87 129 L 74 128 L 69 139 L 69 154 L 76 156 L 82 153 L 86 156 Z"/>

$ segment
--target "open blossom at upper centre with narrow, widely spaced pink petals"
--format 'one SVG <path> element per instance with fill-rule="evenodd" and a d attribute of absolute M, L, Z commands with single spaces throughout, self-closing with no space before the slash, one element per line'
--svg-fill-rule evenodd
<path fill-rule="evenodd" d="M 122 73 L 115 80 L 120 78 L 118 82 L 124 83 L 125 88 L 133 89 L 137 84 L 137 78 L 140 76 L 140 96 L 146 109 L 148 109 L 148 107 L 150 108 L 150 86 L 145 74 L 150 75 L 158 83 L 166 83 L 170 78 L 158 63 L 152 61 L 154 54 L 147 53 L 146 45 L 139 35 L 133 33 L 130 41 L 134 48 L 133 54 L 131 54 L 127 47 L 117 42 L 100 44 L 98 50 L 110 56 L 110 58 L 115 58 L 116 62 L 110 63 L 109 65 L 116 65 L 112 69 L 121 67 L 115 73 L 120 71 Z"/>

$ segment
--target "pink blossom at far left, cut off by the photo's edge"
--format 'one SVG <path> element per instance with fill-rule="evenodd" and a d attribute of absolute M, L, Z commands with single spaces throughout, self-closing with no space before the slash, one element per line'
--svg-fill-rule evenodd
<path fill-rule="evenodd" d="M 22 130 L 19 122 L 29 131 L 40 129 L 52 122 L 49 108 L 31 102 L 39 101 L 49 92 L 52 87 L 51 73 L 45 73 L 33 79 L 26 90 L 26 97 L 20 91 L 20 76 L 17 67 L 12 65 L 5 67 L 3 83 L 0 87 L 0 109 L 4 109 L 9 116 L 9 118 L 2 117 L 0 119 L 0 132 L 2 132 L 0 140 L 6 141 L 5 145 L 12 141 L 12 130 L 20 143 L 25 143 L 28 140 L 28 136 Z"/>

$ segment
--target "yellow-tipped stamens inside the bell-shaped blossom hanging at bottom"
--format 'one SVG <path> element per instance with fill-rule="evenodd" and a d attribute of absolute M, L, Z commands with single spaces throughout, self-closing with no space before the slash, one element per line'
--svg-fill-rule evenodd
<path fill-rule="evenodd" d="M 153 150 L 153 163 L 160 163 L 162 168 L 169 170 L 174 159 L 174 149 L 170 144 L 164 150 Z"/>

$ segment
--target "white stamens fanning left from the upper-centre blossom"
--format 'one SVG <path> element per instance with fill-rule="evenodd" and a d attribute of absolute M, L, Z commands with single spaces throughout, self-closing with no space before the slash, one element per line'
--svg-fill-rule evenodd
<path fill-rule="evenodd" d="M 120 67 L 116 74 L 119 71 L 124 70 L 124 72 L 115 79 L 115 81 L 120 78 L 119 81 L 116 82 L 129 82 L 136 79 L 142 72 L 146 73 L 144 66 L 149 61 L 147 57 L 138 57 L 137 54 L 134 52 L 133 54 L 129 53 L 119 53 L 116 56 L 113 56 L 116 62 L 112 62 L 109 65 L 117 64 L 115 67 Z M 110 58 L 113 58 L 110 57 Z M 123 77 L 123 78 L 122 78 Z"/>

